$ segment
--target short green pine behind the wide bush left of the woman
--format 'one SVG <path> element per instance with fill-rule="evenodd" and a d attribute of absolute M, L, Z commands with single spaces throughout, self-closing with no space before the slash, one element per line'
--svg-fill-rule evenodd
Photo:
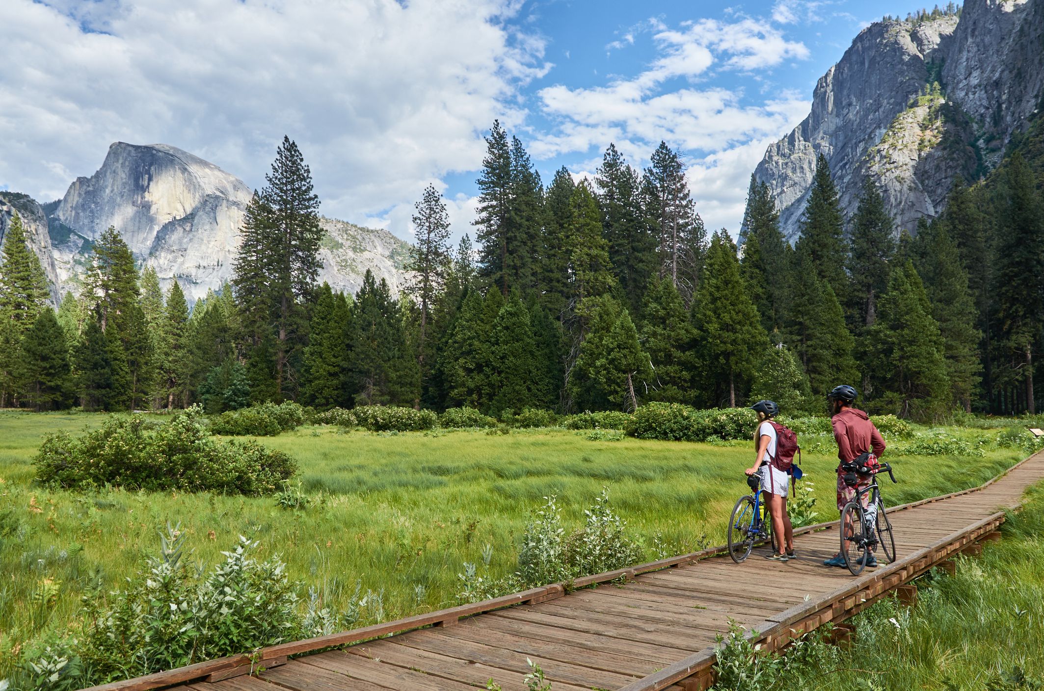
<path fill-rule="evenodd" d="M 674 284 L 654 276 L 645 290 L 641 314 L 642 348 L 648 353 L 652 367 L 644 398 L 693 403 L 692 349 L 696 331 Z"/>

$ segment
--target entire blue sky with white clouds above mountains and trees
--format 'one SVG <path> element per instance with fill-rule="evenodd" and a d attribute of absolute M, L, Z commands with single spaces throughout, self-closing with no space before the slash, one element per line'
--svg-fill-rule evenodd
<path fill-rule="evenodd" d="M 578 0 L 4 0 L 0 188 L 61 196 L 110 143 L 162 142 L 252 187 L 284 134 L 324 213 L 410 236 L 440 187 L 474 216 L 494 118 L 545 182 L 665 140 L 711 229 L 738 230 L 768 142 L 858 31 L 921 5 Z"/>

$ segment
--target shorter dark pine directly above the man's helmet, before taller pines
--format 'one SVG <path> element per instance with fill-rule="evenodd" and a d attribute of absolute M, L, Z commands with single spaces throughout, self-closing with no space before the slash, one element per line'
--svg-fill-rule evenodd
<path fill-rule="evenodd" d="M 818 278 L 807 244 L 794 253 L 787 315 L 788 340 L 808 374 L 815 397 L 838 383 L 856 381 L 855 339 L 830 284 Z"/>

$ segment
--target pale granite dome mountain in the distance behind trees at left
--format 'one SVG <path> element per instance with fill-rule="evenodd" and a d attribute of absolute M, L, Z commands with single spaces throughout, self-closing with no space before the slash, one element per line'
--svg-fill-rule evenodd
<path fill-rule="evenodd" d="M 117 142 L 101 168 L 77 177 L 61 200 L 41 207 L 16 196 L 33 210 L 32 237 L 41 238 L 33 247 L 55 295 L 77 291 L 94 241 L 112 225 L 139 267 L 156 268 L 164 289 L 176 278 L 195 301 L 232 279 L 251 194 L 242 181 L 187 151 Z M 387 231 L 332 218 L 323 218 L 322 225 L 319 282 L 354 292 L 371 268 L 393 290 L 402 287 L 405 242 Z"/>

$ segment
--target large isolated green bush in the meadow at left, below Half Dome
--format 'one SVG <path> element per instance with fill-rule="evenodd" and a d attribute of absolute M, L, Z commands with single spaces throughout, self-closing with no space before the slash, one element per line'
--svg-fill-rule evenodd
<path fill-rule="evenodd" d="M 75 439 L 65 432 L 50 434 L 33 464 L 37 480 L 51 487 L 247 496 L 274 494 L 298 471 L 285 453 L 254 442 L 215 439 L 203 425 L 198 405 L 159 426 L 140 415 L 114 416 Z"/>

